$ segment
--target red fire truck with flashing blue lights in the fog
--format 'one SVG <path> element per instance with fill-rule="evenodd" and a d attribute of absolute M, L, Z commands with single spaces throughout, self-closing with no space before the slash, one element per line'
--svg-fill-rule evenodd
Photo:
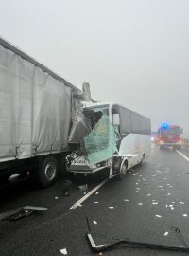
<path fill-rule="evenodd" d="M 175 149 L 180 149 L 181 147 L 181 135 L 182 129 L 179 125 L 170 125 L 163 123 L 157 134 L 157 144 L 160 146 L 160 149 L 167 147 L 173 147 Z"/>

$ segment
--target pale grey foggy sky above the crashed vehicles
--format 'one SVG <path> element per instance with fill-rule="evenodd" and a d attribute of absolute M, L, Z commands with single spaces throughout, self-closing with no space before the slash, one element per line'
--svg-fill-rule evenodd
<path fill-rule="evenodd" d="M 0 35 L 81 88 L 189 135 L 188 0 L 0 0 Z"/>

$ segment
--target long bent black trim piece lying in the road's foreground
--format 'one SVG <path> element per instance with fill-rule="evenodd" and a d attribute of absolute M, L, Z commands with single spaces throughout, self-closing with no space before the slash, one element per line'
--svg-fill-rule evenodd
<path fill-rule="evenodd" d="M 94 239 L 92 237 L 92 234 L 87 233 L 87 240 L 90 244 L 90 247 L 93 252 L 100 252 L 106 249 L 110 249 L 112 247 L 118 246 L 118 245 L 127 245 L 129 247 L 142 247 L 142 248 L 150 248 L 150 249 L 162 249 L 162 250 L 174 250 L 174 251 L 182 251 L 182 252 L 189 252 L 189 247 L 173 247 L 168 245 L 158 245 L 158 244 L 150 244 L 150 243 L 142 243 L 142 242 L 135 242 L 135 241 L 129 241 L 129 240 L 117 240 L 113 243 L 107 243 L 104 245 L 95 245 Z"/>

